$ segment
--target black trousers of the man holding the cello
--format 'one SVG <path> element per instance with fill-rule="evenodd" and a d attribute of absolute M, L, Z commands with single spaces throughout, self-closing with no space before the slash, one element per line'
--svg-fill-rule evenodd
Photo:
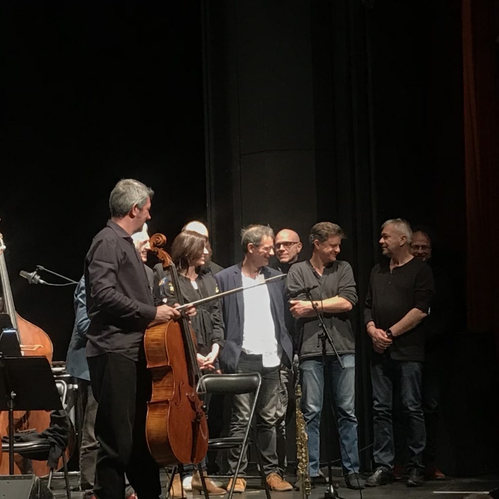
<path fill-rule="evenodd" d="M 139 499 L 158 499 L 159 467 L 149 453 L 145 432 L 151 394 L 145 360 L 134 362 L 117 353 L 106 353 L 89 357 L 88 366 L 98 403 L 96 497 L 123 499 L 126 473 Z"/>

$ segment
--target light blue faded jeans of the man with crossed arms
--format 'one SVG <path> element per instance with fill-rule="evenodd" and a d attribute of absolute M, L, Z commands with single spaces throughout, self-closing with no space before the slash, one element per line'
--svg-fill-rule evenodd
<path fill-rule="evenodd" d="M 357 417 L 355 416 L 355 355 L 341 355 L 344 369 L 336 356 L 327 356 L 327 379 L 340 439 L 343 472 L 358 473 Z M 324 401 L 324 366 L 321 357 L 300 362 L 301 411 L 307 425 L 309 474 L 319 475 L 320 415 Z"/>

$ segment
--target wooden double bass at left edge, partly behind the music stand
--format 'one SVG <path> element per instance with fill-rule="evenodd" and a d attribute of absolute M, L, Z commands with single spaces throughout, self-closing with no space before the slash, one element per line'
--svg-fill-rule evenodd
<path fill-rule="evenodd" d="M 0 234 L 0 277 L 3 290 L 3 309 L 10 318 L 12 328 L 15 329 L 21 355 L 37 355 L 46 357 L 52 363 L 53 345 L 50 337 L 43 329 L 23 319 L 15 311 L 8 279 L 7 266 L 3 250 L 5 250 Z M 42 432 L 50 426 L 50 412 L 48 411 L 14 411 L 14 433 L 20 431 Z M 0 435 L 8 434 L 8 411 L 0 412 Z M 65 451 L 69 459 L 69 446 Z M 1 453 L 0 453 L 1 455 Z M 59 468 L 62 467 L 62 457 L 59 459 Z M 22 475 L 34 473 L 38 477 L 46 477 L 50 468 L 44 461 L 30 461 L 18 454 L 14 454 L 14 474 Z M 0 456 L 0 475 L 9 475 L 9 462 Z"/>

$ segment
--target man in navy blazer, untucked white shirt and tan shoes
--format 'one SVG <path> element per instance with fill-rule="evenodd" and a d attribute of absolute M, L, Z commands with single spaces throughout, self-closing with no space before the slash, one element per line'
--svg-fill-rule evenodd
<path fill-rule="evenodd" d="M 265 279 L 279 275 L 268 267 L 273 254 L 274 233 L 268 226 L 252 225 L 242 230 L 244 259 L 215 275 L 221 292 L 238 287 L 250 288 Z M 228 373 L 259 372 L 262 385 L 256 402 L 258 443 L 263 471 L 273 491 L 290 491 L 291 484 L 279 475 L 276 452 L 276 407 L 279 397 L 279 366 L 291 365 L 292 343 L 284 322 L 284 279 L 245 289 L 223 298 L 226 342 L 220 354 L 222 370 Z M 236 395 L 231 400 L 230 436 L 244 435 L 250 415 L 250 396 Z M 230 472 L 234 474 L 237 452 L 228 453 Z M 248 460 L 243 457 L 240 475 L 245 474 Z M 232 479 L 227 490 L 232 486 Z M 242 493 L 246 480 L 236 479 L 234 492 Z"/>

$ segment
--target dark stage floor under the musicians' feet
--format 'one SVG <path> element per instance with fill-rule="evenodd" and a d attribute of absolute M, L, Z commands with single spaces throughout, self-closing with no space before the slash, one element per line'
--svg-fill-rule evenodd
<path fill-rule="evenodd" d="M 363 475 L 364 476 L 364 475 Z M 365 475 L 364 477 L 367 477 Z M 287 480 L 294 483 L 294 477 L 287 477 Z M 76 476 L 71 477 L 71 484 L 76 486 L 78 479 Z M 162 475 L 162 482 L 166 484 L 166 474 Z M 366 488 L 363 491 L 352 491 L 345 487 L 342 479 L 335 478 L 334 482 L 336 484 L 336 491 L 339 498 L 344 499 L 354 499 L 354 498 L 365 498 L 365 499 L 381 499 L 381 498 L 412 498 L 412 499 L 462 499 L 471 493 L 487 493 L 497 487 L 499 487 L 499 474 L 482 475 L 480 477 L 473 478 L 452 478 L 449 477 L 446 480 L 426 482 L 422 487 L 410 488 L 404 482 L 395 482 L 393 484 L 384 485 L 375 488 Z M 56 479 L 53 482 L 52 492 L 54 498 L 61 499 L 65 498 L 64 480 Z M 320 486 L 312 489 L 310 494 L 311 499 L 319 499 L 324 497 L 324 492 L 326 491 L 326 486 Z M 360 494 L 362 493 L 362 495 Z M 298 491 L 292 492 L 273 492 L 271 493 L 272 498 L 278 499 L 299 499 L 300 493 Z M 72 499 L 83 499 L 84 494 L 82 492 L 72 492 Z M 200 498 L 200 496 L 195 496 Z M 201 496 L 202 498 L 203 496 Z M 222 498 L 227 496 L 221 496 Z M 236 494 L 234 496 L 238 499 L 265 499 L 265 493 L 261 489 L 258 489 L 257 481 L 249 481 L 248 487 L 244 494 Z M 187 499 L 192 499 L 192 494 L 187 494 Z"/>

